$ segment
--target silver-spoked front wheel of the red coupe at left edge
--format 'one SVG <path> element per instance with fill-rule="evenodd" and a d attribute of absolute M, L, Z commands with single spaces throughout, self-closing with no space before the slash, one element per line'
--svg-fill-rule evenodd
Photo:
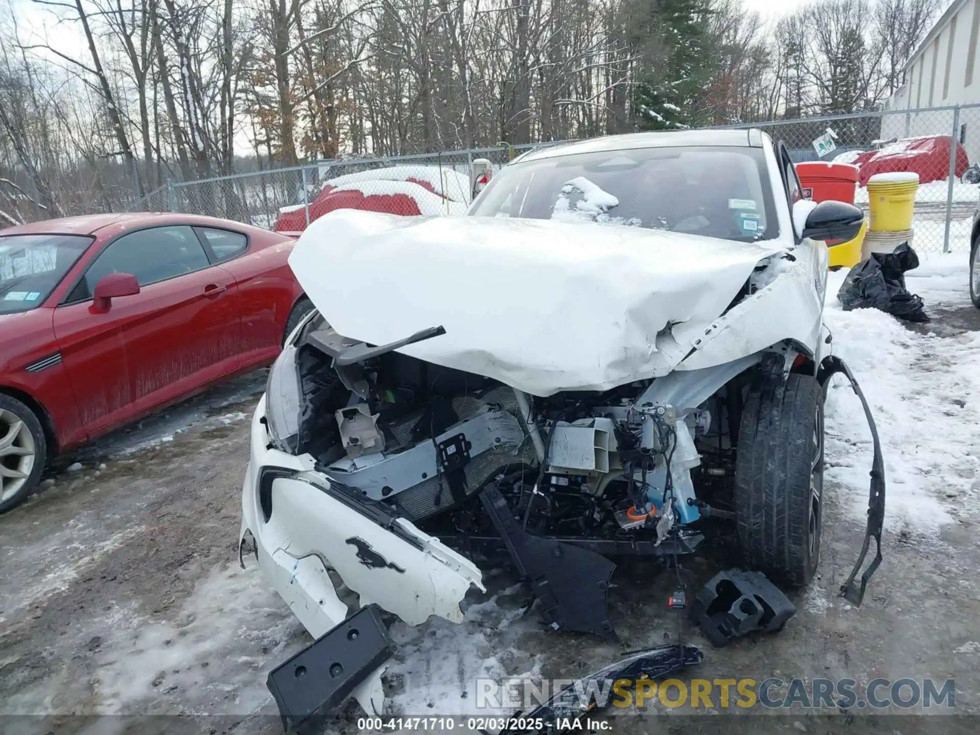
<path fill-rule="evenodd" d="M 41 477 L 47 442 L 34 412 L 0 395 L 0 513 L 23 503 Z"/>

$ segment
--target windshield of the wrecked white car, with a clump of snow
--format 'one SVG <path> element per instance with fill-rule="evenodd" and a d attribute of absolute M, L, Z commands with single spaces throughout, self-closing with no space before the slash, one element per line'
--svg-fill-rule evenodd
<path fill-rule="evenodd" d="M 733 240 L 778 237 L 761 148 L 581 153 L 506 167 L 470 215 L 593 221 Z"/>

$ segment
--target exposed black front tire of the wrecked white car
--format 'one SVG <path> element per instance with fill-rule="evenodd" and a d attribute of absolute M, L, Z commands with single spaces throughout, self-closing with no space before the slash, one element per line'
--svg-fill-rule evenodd
<path fill-rule="evenodd" d="M 812 375 L 754 387 L 735 466 L 735 516 L 750 568 L 806 585 L 820 561 L 823 391 Z"/>

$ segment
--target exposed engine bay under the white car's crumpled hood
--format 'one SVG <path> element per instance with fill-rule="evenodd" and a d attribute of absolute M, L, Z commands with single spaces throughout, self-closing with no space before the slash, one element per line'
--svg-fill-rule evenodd
<path fill-rule="evenodd" d="M 654 381 L 535 398 L 393 351 L 334 370 L 331 353 L 343 348 L 342 338 L 319 318 L 298 345 L 303 412 L 295 451 L 415 522 L 465 509 L 495 480 L 524 530 L 644 541 L 656 553 L 676 520 L 691 522 L 704 509 L 688 471 L 702 453 L 717 465 L 709 476 L 731 474 L 727 431 L 711 434 L 711 410 L 662 403 Z M 737 412 L 736 392 L 716 397 L 723 423 L 730 402 Z M 487 530 L 471 514 L 453 521 L 455 529 L 439 530 Z"/>

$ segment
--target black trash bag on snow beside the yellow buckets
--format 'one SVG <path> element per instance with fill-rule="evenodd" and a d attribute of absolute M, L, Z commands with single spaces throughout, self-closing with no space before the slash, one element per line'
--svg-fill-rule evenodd
<path fill-rule="evenodd" d="M 907 270 L 918 268 L 918 256 L 904 242 L 893 253 L 871 253 L 851 269 L 844 285 L 837 292 L 837 300 L 845 312 L 852 309 L 880 309 L 907 321 L 928 321 L 922 308 L 922 299 L 908 293 Z"/>

